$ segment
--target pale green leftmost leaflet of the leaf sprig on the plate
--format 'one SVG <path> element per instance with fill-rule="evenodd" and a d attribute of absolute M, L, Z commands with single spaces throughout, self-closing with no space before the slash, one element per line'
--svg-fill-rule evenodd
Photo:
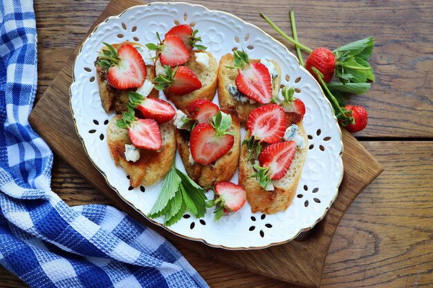
<path fill-rule="evenodd" d="M 149 212 L 149 217 L 153 218 L 152 215 L 162 211 L 167 206 L 169 200 L 174 198 L 176 191 L 178 191 L 178 186 L 181 184 L 181 177 L 178 176 L 176 170 L 176 166 L 173 164 L 172 169 L 165 175 L 163 187 L 156 199 L 154 207 L 152 207 Z"/>

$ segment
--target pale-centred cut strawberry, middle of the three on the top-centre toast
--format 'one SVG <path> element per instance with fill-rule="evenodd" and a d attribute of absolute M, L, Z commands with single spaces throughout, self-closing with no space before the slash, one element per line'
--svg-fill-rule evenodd
<path fill-rule="evenodd" d="M 185 64 L 189 58 L 190 52 L 181 38 L 174 35 L 165 37 L 159 56 L 161 64 L 174 67 Z"/>

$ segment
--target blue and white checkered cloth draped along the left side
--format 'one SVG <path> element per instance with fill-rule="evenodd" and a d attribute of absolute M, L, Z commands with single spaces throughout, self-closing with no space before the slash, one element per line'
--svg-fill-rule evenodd
<path fill-rule="evenodd" d="M 30 287 L 208 287 L 167 240 L 113 207 L 68 207 L 28 124 L 37 86 L 33 1 L 0 1 L 0 264 Z"/>

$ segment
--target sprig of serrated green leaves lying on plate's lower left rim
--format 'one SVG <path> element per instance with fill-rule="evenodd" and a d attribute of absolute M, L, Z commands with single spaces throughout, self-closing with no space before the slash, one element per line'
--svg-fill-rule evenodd
<path fill-rule="evenodd" d="M 206 212 L 205 191 L 173 164 L 147 217 L 164 216 L 165 226 L 170 226 L 182 218 L 186 209 L 196 218 L 202 218 Z"/>

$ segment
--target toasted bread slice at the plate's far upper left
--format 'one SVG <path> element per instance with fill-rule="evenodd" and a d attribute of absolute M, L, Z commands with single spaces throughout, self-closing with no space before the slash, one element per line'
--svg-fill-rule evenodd
<path fill-rule="evenodd" d="M 112 44 L 113 48 L 118 48 L 118 46 L 122 44 L 131 44 L 132 46 L 142 46 L 141 44 L 137 42 L 122 42 L 120 44 Z M 142 46 L 144 47 L 144 46 Z M 104 46 L 102 50 L 107 50 L 108 48 Z M 131 91 L 137 90 L 134 89 L 128 89 L 128 90 L 120 90 L 111 87 L 107 81 L 105 81 L 105 75 L 104 75 L 104 68 L 99 66 L 98 64 L 95 64 L 96 67 L 96 79 L 98 81 L 98 87 L 99 87 L 99 95 L 101 97 L 102 107 L 107 113 L 110 113 L 111 111 L 116 111 L 116 113 L 121 113 L 122 111 L 126 111 L 126 104 L 129 101 L 128 94 Z M 147 76 L 146 79 L 149 79 L 150 81 L 154 81 L 154 78 L 156 77 L 155 74 L 155 66 L 154 65 L 146 65 L 147 70 Z M 149 94 L 149 98 L 158 98 L 159 92 L 155 88 L 152 89 L 151 93 Z"/>

